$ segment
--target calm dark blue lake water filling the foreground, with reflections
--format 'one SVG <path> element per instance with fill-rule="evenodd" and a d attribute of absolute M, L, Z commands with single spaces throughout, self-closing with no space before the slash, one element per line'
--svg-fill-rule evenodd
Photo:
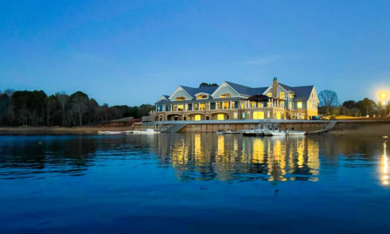
<path fill-rule="evenodd" d="M 0 136 L 0 233 L 389 233 L 386 145 Z"/>

